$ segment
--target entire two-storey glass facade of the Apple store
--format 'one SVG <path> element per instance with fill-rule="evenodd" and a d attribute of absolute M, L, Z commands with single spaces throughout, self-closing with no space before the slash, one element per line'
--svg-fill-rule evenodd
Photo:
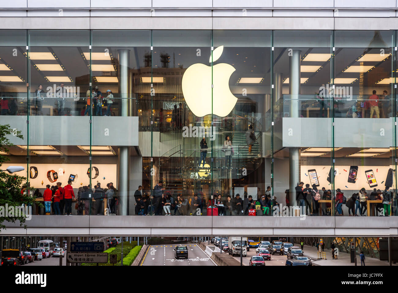
<path fill-rule="evenodd" d="M 4 166 L 50 213 L 397 215 L 396 33 L 0 30 Z"/>

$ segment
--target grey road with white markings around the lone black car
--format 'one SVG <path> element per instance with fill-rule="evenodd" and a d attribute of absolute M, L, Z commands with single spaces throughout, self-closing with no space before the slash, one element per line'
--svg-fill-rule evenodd
<path fill-rule="evenodd" d="M 216 264 L 196 244 L 181 244 L 188 247 L 188 259 L 174 258 L 178 245 L 150 245 L 141 266 L 215 266 Z"/>

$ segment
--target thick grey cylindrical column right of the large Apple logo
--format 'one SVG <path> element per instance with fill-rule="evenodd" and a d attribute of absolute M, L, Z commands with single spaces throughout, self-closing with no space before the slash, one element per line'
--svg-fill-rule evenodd
<path fill-rule="evenodd" d="M 299 117 L 300 110 L 300 61 L 301 51 L 293 50 L 289 57 L 289 93 L 290 93 L 290 115 Z M 300 183 L 300 148 L 289 148 L 289 200 L 291 205 L 296 205 L 296 189 Z"/>

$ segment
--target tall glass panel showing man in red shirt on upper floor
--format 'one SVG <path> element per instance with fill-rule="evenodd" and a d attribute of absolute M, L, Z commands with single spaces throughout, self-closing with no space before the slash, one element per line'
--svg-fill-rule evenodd
<path fill-rule="evenodd" d="M 392 31 L 335 32 L 335 186 L 350 207 L 337 193 L 336 215 L 382 215 L 394 186 L 393 41 Z"/>

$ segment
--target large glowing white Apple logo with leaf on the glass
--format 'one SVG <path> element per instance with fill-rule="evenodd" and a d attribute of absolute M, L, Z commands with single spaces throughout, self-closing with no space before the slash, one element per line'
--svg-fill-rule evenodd
<path fill-rule="evenodd" d="M 213 51 L 213 62 L 220 58 L 224 46 Z M 211 63 L 211 56 L 209 59 Z M 189 109 L 197 117 L 211 114 L 211 66 L 196 63 L 185 70 L 181 87 Z M 235 68 L 227 63 L 213 65 L 213 114 L 225 117 L 235 107 L 236 98 L 229 89 L 229 78 Z"/>

